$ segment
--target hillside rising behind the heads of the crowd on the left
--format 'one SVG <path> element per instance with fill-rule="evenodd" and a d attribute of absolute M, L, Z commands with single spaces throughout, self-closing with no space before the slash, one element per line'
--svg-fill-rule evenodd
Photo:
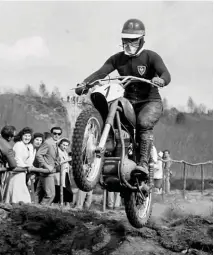
<path fill-rule="evenodd" d="M 28 97 L 18 94 L 0 95 L 0 127 L 14 125 L 17 130 L 29 126 L 34 132 L 49 131 L 57 125 L 63 135 L 70 135 L 70 123 L 64 108 L 54 109 L 47 99 Z"/>

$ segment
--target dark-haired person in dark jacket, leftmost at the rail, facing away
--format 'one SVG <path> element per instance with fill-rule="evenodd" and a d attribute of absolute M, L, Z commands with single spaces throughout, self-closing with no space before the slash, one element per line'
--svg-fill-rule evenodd
<path fill-rule="evenodd" d="M 7 168 L 13 170 L 16 168 L 15 153 L 10 142 L 15 136 L 16 128 L 14 126 L 5 126 L 1 130 L 0 137 L 0 169 Z M 0 173 L 0 202 L 3 201 L 4 191 L 8 182 L 9 172 Z"/>

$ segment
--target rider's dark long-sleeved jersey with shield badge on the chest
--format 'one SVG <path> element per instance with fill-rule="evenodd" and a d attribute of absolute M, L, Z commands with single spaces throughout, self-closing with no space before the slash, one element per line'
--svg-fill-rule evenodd
<path fill-rule="evenodd" d="M 93 82 L 97 79 L 103 79 L 114 70 L 117 70 L 120 76 L 131 75 L 149 80 L 159 76 L 165 81 L 165 85 L 171 81 L 170 73 L 162 58 L 151 50 L 143 50 L 136 57 L 130 57 L 124 52 L 119 52 L 111 56 L 98 71 L 84 81 Z M 156 87 L 151 87 L 150 84 L 142 82 L 134 82 L 129 85 L 125 97 L 137 102 L 161 100 Z"/>

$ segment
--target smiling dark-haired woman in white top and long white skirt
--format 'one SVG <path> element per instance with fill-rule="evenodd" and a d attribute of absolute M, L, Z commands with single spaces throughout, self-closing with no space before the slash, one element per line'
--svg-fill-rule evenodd
<path fill-rule="evenodd" d="M 30 143 L 32 133 L 33 130 L 29 127 L 23 128 L 19 133 L 21 141 L 16 142 L 13 147 L 17 167 L 29 170 L 33 168 L 36 150 Z M 31 202 L 31 196 L 26 185 L 26 172 L 11 173 L 5 195 L 6 203 Z"/>

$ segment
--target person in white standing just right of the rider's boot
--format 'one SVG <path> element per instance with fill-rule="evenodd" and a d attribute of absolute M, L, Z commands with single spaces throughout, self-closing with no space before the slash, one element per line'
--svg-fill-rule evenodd
<path fill-rule="evenodd" d="M 161 194 L 162 182 L 163 182 L 163 152 L 158 153 L 157 162 L 154 165 L 154 186 L 157 194 Z"/>

